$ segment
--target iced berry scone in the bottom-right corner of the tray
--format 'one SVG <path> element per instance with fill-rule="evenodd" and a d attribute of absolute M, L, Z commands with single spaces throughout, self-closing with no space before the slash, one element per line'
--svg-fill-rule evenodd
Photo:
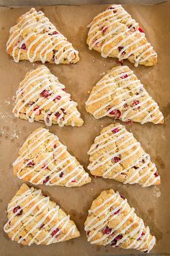
<path fill-rule="evenodd" d="M 136 215 L 124 196 L 112 189 L 103 191 L 91 204 L 85 231 L 91 244 L 109 244 L 140 252 L 150 252 L 156 244 L 143 219 Z"/>

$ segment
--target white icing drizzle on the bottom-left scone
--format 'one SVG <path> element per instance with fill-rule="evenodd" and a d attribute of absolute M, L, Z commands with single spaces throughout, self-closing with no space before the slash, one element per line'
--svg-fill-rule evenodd
<path fill-rule="evenodd" d="M 25 203 L 25 205 L 21 207 L 21 203 L 24 204 L 24 202 L 27 202 L 27 203 Z M 63 234 L 62 232 L 63 229 L 65 229 L 66 226 L 69 226 L 68 224 L 70 221 L 70 216 L 69 215 L 64 216 L 62 219 L 60 216 L 61 220 L 59 221 L 58 219 L 59 206 L 57 206 L 56 204 L 53 208 L 47 211 L 47 213 L 40 219 L 40 216 L 45 211 L 45 208 L 48 208 L 49 202 L 50 202 L 50 198 L 45 196 L 42 197 L 42 191 L 35 190 L 34 187 L 30 187 L 30 189 L 26 190 L 21 195 L 17 195 L 16 198 L 12 200 L 11 203 L 9 203 L 7 213 L 10 213 L 11 211 L 13 211 L 13 209 L 17 206 L 19 206 L 20 208 L 16 213 L 14 214 L 12 213 L 12 216 L 4 225 L 4 231 L 6 233 L 10 233 L 15 229 L 16 231 L 12 236 L 12 240 L 14 240 L 15 237 L 18 237 L 19 234 L 22 234 L 24 229 L 27 229 L 26 234 L 24 236 L 19 237 L 18 243 L 22 242 L 24 239 L 27 239 L 27 237 L 29 237 L 29 235 L 31 234 L 32 239 L 30 240 L 28 245 L 31 245 L 34 242 L 35 244 L 42 244 L 42 243 L 51 244 L 53 242 L 61 242 L 65 240 L 71 232 L 73 234 L 76 231 L 76 225 L 74 224 L 73 226 L 71 226 L 70 229 L 68 229 L 68 232 L 66 234 Z M 37 213 L 34 213 L 35 208 L 37 206 L 40 206 L 40 208 L 37 211 Z M 29 211 L 26 211 L 24 213 L 24 208 L 27 208 L 27 207 L 30 207 L 30 209 Z M 18 218 L 17 222 L 15 222 L 15 224 L 10 227 L 12 220 L 14 219 L 15 216 L 17 216 L 17 213 L 19 213 L 19 211 L 22 211 L 22 215 Z M 30 226 L 32 226 L 32 221 L 36 221 L 36 217 L 39 217 L 39 221 L 37 221 L 35 225 L 31 228 Z M 46 224 L 44 224 L 44 221 L 48 219 L 50 220 Z M 50 228 L 49 227 L 50 223 L 52 221 L 55 221 L 56 219 L 58 219 L 58 223 L 55 224 L 55 226 L 53 226 L 52 228 Z M 22 224 L 22 221 L 25 221 L 24 224 Z M 47 227 L 48 227 L 48 233 L 46 234 L 46 236 L 42 239 L 39 239 L 39 241 L 37 241 L 37 237 L 41 233 L 43 233 Z M 58 229 L 58 232 L 56 232 L 52 236 L 51 233 L 55 229 Z"/>

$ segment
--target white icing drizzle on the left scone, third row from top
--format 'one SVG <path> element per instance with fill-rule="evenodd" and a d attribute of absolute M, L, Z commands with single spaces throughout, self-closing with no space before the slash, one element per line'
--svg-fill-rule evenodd
<path fill-rule="evenodd" d="M 48 133 L 48 134 L 47 134 Z M 44 137 L 44 138 L 43 138 Z M 24 146 L 28 143 L 28 141 L 32 141 L 29 144 L 29 151 L 27 152 L 27 149 L 24 149 L 22 154 L 17 158 L 17 160 L 14 162 L 13 166 L 16 167 L 17 164 L 21 162 L 25 162 L 25 160 L 30 158 L 30 155 L 32 152 L 35 152 L 36 149 L 38 149 L 42 144 L 46 143 L 45 149 L 40 152 L 42 154 L 46 151 L 49 147 L 53 147 L 53 145 L 58 141 L 58 137 L 53 135 L 52 133 L 49 133 L 49 131 L 45 128 L 41 128 L 39 131 L 32 133 L 32 135 L 27 138 L 25 141 Z M 34 159 L 36 159 L 37 154 L 35 155 L 35 158 L 29 159 L 29 161 L 25 162 L 24 164 L 21 164 L 20 168 L 17 170 L 17 177 L 19 179 L 23 179 L 24 177 L 27 177 L 28 175 L 31 175 L 32 172 L 35 172 L 35 175 L 32 175 L 30 182 L 35 185 L 42 184 L 42 182 L 48 177 L 48 181 L 45 182 L 45 185 L 61 185 L 66 180 L 66 187 L 73 187 L 76 185 L 79 185 L 81 182 L 86 182 L 89 178 L 89 174 L 84 171 L 84 167 L 82 167 L 80 164 L 76 164 L 76 158 L 74 156 L 71 156 L 71 154 L 67 151 L 67 156 L 60 162 L 58 161 L 59 157 L 63 154 L 66 154 L 67 147 L 63 144 L 60 144 L 59 146 L 56 146 L 53 151 L 49 151 L 48 155 L 45 156 L 41 162 L 38 162 L 32 168 L 29 168 L 27 172 L 25 172 L 23 175 L 21 175 L 22 169 L 27 167 L 27 164 L 29 162 L 34 162 Z M 53 159 L 50 160 L 50 157 L 53 156 Z M 36 162 L 36 160 L 35 160 Z M 48 169 L 47 175 L 43 175 L 43 171 L 45 168 L 50 167 L 50 164 L 55 164 L 55 167 L 53 169 Z M 69 170 L 69 172 L 66 174 L 67 169 L 69 169 L 71 166 L 72 170 Z M 38 172 L 36 170 L 38 169 Z M 61 170 L 58 170 L 61 169 Z M 61 175 L 62 174 L 62 175 Z M 35 182 L 35 179 L 38 178 L 37 182 Z M 54 182 L 53 180 L 55 178 L 58 178 L 58 181 Z"/>

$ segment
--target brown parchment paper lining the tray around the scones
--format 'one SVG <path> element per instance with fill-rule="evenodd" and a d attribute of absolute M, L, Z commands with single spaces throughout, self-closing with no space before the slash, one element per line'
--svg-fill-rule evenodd
<path fill-rule="evenodd" d="M 79 50 L 81 60 L 75 65 L 55 66 L 48 64 L 53 74 L 59 81 L 66 84 L 66 90 L 72 94 L 73 100 L 79 103 L 79 110 L 84 125 L 81 128 L 63 127 L 53 125 L 50 131 L 56 133 L 63 144 L 68 146 L 71 154 L 88 165 L 86 152 L 92 144 L 94 137 L 99 134 L 103 126 L 109 125 L 113 120 L 103 118 L 94 120 L 84 108 L 84 102 L 88 97 L 88 91 L 101 78 L 104 71 L 117 65 L 116 59 L 102 58 L 99 53 L 90 51 L 86 45 L 86 25 L 91 19 L 106 9 L 107 6 L 49 6 L 40 7 L 46 16 L 57 25 L 58 30 L 68 37 L 73 46 Z M 87 256 L 87 255 L 115 255 L 137 254 L 135 250 L 121 250 L 120 248 L 99 247 L 86 242 L 84 221 L 92 200 L 104 189 L 114 188 L 128 198 L 130 206 L 136 209 L 136 213 L 151 228 L 156 236 L 157 245 L 152 253 L 170 253 L 169 248 L 169 199 L 170 199 L 170 175 L 169 175 L 169 63 L 170 63 L 170 3 L 156 6 L 125 6 L 128 12 L 140 23 L 146 31 L 148 40 L 151 41 L 158 53 L 158 64 L 151 68 L 139 66 L 135 68 L 128 61 L 130 69 L 135 71 L 138 78 L 145 84 L 146 89 L 161 107 L 165 117 L 164 125 L 134 123 L 127 128 L 133 131 L 143 148 L 151 154 L 151 159 L 156 163 L 161 174 L 161 185 L 158 187 L 142 188 L 139 185 L 123 185 L 114 180 L 93 178 L 89 185 L 80 188 L 48 187 L 40 185 L 43 192 L 55 200 L 66 213 L 71 215 L 79 230 L 81 237 L 70 242 L 52 244 L 50 246 L 24 247 L 22 244 L 12 242 L 2 231 L 6 222 L 6 206 L 9 200 L 17 192 L 22 181 L 14 177 L 12 162 L 17 157 L 19 147 L 35 128 L 41 123 L 29 123 L 12 115 L 13 95 L 24 74 L 34 69 L 40 63 L 22 61 L 14 63 L 6 54 L 6 40 L 9 28 L 12 27 L 17 17 L 27 12 L 29 8 L 9 9 L 0 8 L 0 255 L 1 256 Z"/>

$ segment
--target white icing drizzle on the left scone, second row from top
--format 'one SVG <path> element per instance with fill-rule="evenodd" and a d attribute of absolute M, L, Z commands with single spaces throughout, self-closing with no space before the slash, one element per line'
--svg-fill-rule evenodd
<path fill-rule="evenodd" d="M 35 72 L 37 72 L 36 75 Z M 53 122 L 52 119 L 55 118 L 58 125 L 62 127 L 63 125 L 68 123 L 68 120 L 70 120 L 71 118 L 80 118 L 80 113 L 77 109 L 72 110 L 72 112 L 70 112 L 68 115 L 69 110 L 72 107 L 76 107 L 78 104 L 76 102 L 73 102 L 73 100 L 70 100 L 71 94 L 63 91 L 63 89 L 65 89 L 65 86 L 58 81 L 57 77 L 53 74 L 47 74 L 47 72 L 49 72 L 49 70 L 45 66 L 40 66 L 37 69 L 30 71 L 30 79 L 26 80 L 26 77 L 22 81 L 21 87 L 19 87 L 19 89 L 17 90 L 17 98 L 13 113 L 18 118 L 19 113 L 22 111 L 22 109 L 24 107 L 27 107 L 29 102 L 32 102 L 30 107 L 27 107 L 26 110 L 27 120 L 32 123 L 35 120 L 35 115 L 37 111 L 43 110 L 44 107 L 53 102 L 53 105 L 49 108 L 47 112 L 44 111 L 43 113 L 41 113 L 43 115 L 43 120 L 45 122 L 45 125 L 51 126 Z M 29 87 L 32 88 L 30 90 L 27 90 Z M 48 96 L 48 98 L 45 99 L 45 102 L 42 103 L 42 101 L 44 101 L 44 97 L 42 97 L 41 93 L 45 89 L 48 90 L 50 87 L 53 87 L 53 90 L 49 91 L 50 95 Z M 23 94 L 23 92 L 27 93 Z M 61 99 L 55 100 L 57 96 L 60 96 Z M 35 100 L 34 102 L 34 99 L 37 97 L 38 100 Z M 36 109 L 37 106 L 39 107 Z M 67 117 L 65 117 L 63 110 L 64 112 L 66 112 L 66 115 L 68 115 Z M 57 112 L 60 112 L 58 118 L 55 117 L 55 114 Z M 72 122 L 71 125 L 74 126 L 75 123 Z"/>

